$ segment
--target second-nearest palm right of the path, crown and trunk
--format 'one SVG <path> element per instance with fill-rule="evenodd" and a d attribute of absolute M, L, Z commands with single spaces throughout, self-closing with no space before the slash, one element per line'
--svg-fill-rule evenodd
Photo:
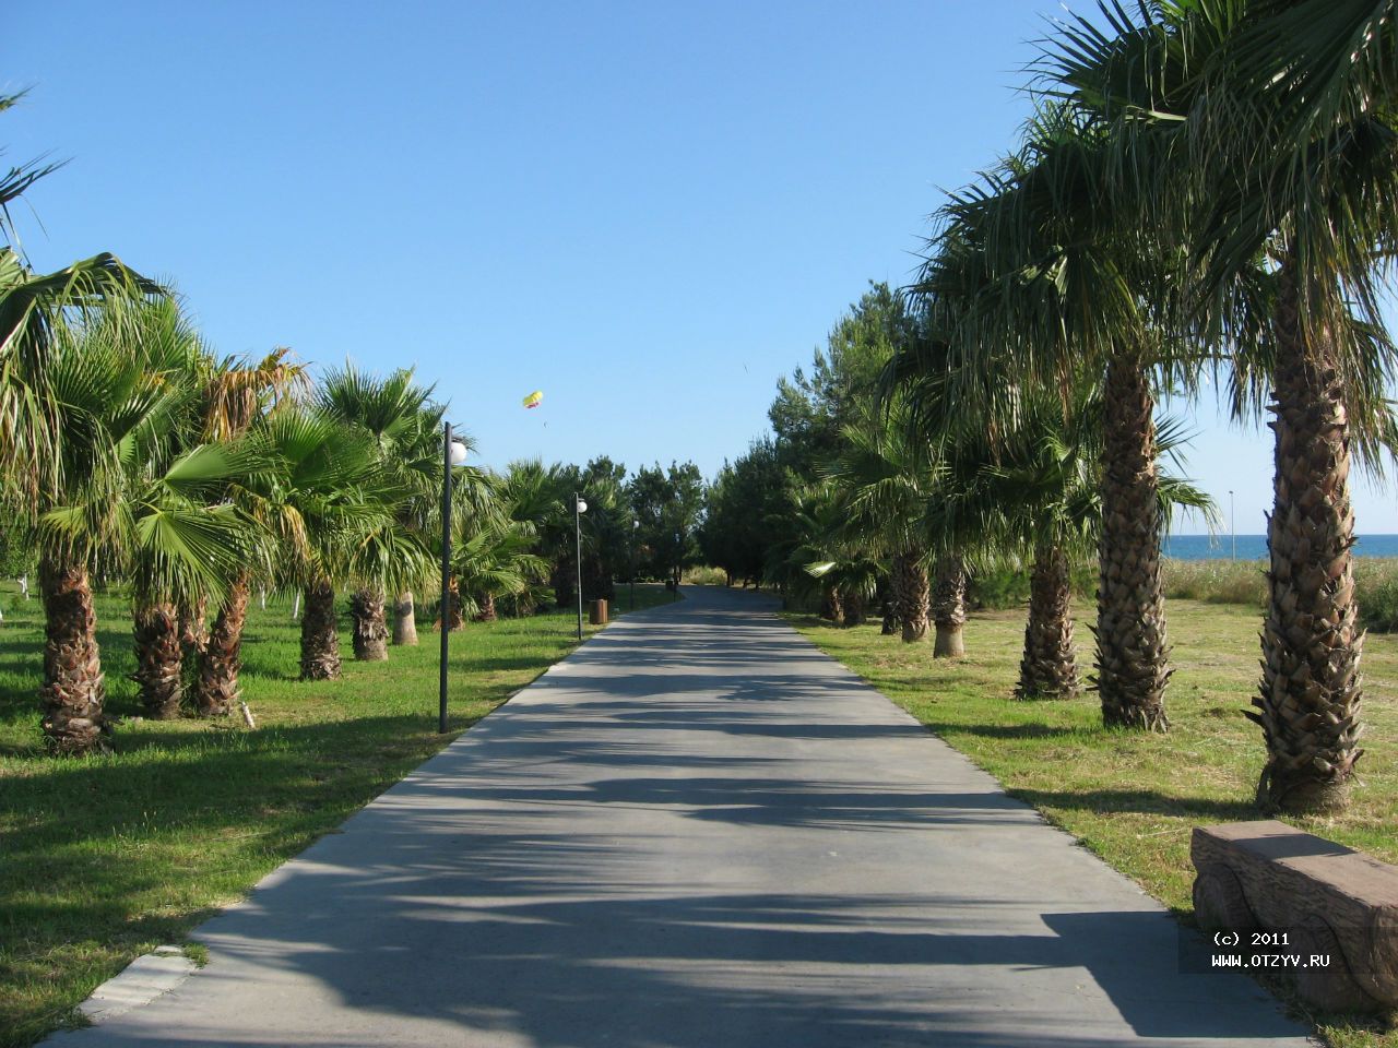
<path fill-rule="evenodd" d="M 918 286 L 958 358 L 955 395 L 983 418 L 1011 419 L 1016 390 L 1103 377 L 1096 687 L 1106 724 L 1165 731 L 1152 380 L 1192 383 L 1199 348 L 1167 323 L 1176 254 L 1109 193 L 1111 145 L 1076 110 L 1043 109 L 1019 154 L 944 207 Z"/>

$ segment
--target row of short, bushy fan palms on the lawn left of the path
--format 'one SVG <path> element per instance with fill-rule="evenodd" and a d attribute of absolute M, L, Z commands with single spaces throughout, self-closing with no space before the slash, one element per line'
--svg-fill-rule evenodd
<path fill-rule="evenodd" d="M 386 595 L 412 643 L 412 590 L 438 560 L 443 409 L 431 388 L 350 365 L 310 388 L 282 351 L 219 361 L 172 298 L 134 291 L 75 314 L 36 310 L 32 359 L 11 362 L 52 428 L 52 471 L 10 468 L 6 482 L 28 486 L 15 502 L 45 604 L 42 724 L 60 753 L 109 732 L 94 573 L 127 581 L 140 700 L 169 718 L 236 708 L 254 587 L 301 592 L 301 676 L 333 679 L 337 592 L 354 590 L 355 657 L 387 658 Z M 506 478 L 461 468 L 454 492 L 464 590 L 449 625 L 500 595 L 531 609 L 547 565 Z"/>

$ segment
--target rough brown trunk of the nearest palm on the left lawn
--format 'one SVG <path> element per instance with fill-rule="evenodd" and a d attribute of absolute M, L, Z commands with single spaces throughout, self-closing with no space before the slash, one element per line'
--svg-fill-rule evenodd
<path fill-rule="evenodd" d="M 96 615 L 87 567 L 62 558 L 39 560 L 43 595 L 43 734 L 59 753 L 88 753 L 102 745 L 106 685 L 96 646 Z"/>

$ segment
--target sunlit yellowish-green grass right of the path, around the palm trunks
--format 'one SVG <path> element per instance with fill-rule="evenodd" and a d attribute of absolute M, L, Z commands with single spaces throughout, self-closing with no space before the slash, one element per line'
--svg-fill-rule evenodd
<path fill-rule="evenodd" d="M 1090 669 L 1093 611 L 1076 608 L 1079 669 Z M 1260 612 L 1172 601 L 1176 667 L 1166 704 L 1169 735 L 1102 728 L 1095 696 L 1072 701 L 1011 699 L 1023 644 L 1023 612 L 979 612 L 966 625 L 966 658 L 932 660 L 931 644 L 903 644 L 878 623 L 835 629 L 790 622 L 935 731 L 1019 799 L 1078 837 L 1111 866 L 1190 918 L 1190 830 L 1260 817 L 1253 806 L 1262 739 L 1241 715 L 1257 689 Z M 1398 864 L 1398 636 L 1364 641 L 1364 757 L 1350 809 L 1295 826 Z M 1398 1048 L 1391 1020 L 1349 1024 L 1314 1016 L 1336 1048 Z"/>

